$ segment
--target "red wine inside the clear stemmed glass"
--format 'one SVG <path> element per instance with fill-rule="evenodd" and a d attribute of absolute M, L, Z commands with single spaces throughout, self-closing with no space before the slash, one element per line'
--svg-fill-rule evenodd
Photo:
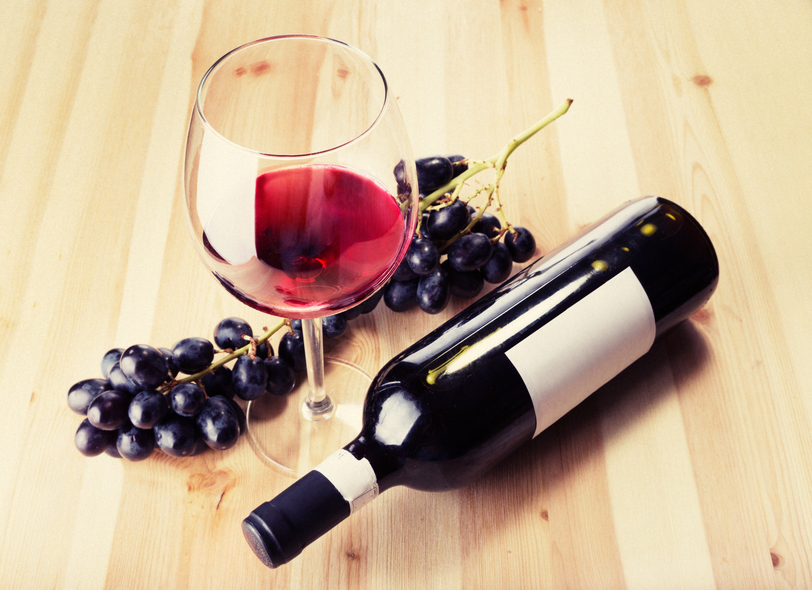
<path fill-rule="evenodd" d="M 256 180 L 256 255 L 218 278 L 261 311 L 319 317 L 375 292 L 408 247 L 404 234 L 397 199 L 373 178 L 337 165 L 278 168 Z"/>

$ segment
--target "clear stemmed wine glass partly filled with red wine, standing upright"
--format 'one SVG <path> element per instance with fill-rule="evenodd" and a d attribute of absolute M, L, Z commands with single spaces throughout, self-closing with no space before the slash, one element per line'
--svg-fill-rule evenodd
<path fill-rule="evenodd" d="M 249 402 L 247 421 L 260 457 L 306 473 L 357 433 L 371 381 L 325 362 L 320 318 L 385 285 L 418 216 L 414 157 L 383 73 L 325 37 L 230 51 L 200 82 L 184 181 L 188 225 L 217 280 L 252 308 L 302 319 L 307 385 Z"/>

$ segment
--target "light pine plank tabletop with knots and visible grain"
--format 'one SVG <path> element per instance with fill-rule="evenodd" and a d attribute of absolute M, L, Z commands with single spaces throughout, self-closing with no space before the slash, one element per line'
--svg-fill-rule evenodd
<path fill-rule="evenodd" d="M 812 4 L 4 0 L 1 588 L 812 587 Z M 394 489 L 269 570 L 241 520 L 291 483 L 247 440 L 87 459 L 66 405 L 114 346 L 260 314 L 207 275 L 182 154 L 206 68 L 328 35 L 386 73 L 415 153 L 511 157 L 544 252 L 660 194 L 718 249 L 710 304 L 470 487 Z M 356 320 L 370 372 L 464 307 Z"/>

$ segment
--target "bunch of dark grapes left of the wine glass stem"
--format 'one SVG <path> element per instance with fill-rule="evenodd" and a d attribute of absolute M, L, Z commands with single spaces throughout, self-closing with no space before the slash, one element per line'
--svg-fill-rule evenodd
<path fill-rule="evenodd" d="M 254 338 L 245 320 L 226 318 L 214 330 L 214 343 L 191 337 L 171 349 L 136 344 L 108 351 L 102 376 L 68 391 L 68 406 L 86 416 L 76 431 L 77 448 L 88 457 L 141 461 L 155 448 L 187 457 L 233 447 L 246 430 L 235 396 L 286 395 L 304 367 L 300 331 L 287 330 L 274 354 L 268 339 L 284 326 Z"/>

